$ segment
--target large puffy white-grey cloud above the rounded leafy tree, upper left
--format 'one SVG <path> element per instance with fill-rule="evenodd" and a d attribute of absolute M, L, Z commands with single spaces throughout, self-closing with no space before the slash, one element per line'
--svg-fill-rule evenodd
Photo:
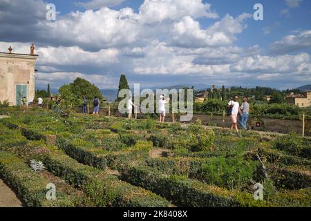
<path fill-rule="evenodd" d="M 71 12 L 53 23 L 41 23 L 46 37 L 64 44 L 86 48 L 106 48 L 133 44 L 138 39 L 140 26 L 131 8 L 86 10 Z"/>

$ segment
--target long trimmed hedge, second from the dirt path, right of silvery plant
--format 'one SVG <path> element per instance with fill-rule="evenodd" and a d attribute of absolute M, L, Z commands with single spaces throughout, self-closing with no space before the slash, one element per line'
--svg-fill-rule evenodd
<path fill-rule="evenodd" d="M 84 191 L 88 195 L 88 201 L 92 202 L 91 206 L 170 206 L 167 200 L 155 193 L 132 186 L 91 166 L 79 164 L 53 146 L 33 146 L 34 149 L 30 146 L 3 148 L 15 153 L 23 152 L 23 156 L 41 160 L 48 171 Z M 38 154 L 37 150 L 42 149 L 46 151 Z"/>

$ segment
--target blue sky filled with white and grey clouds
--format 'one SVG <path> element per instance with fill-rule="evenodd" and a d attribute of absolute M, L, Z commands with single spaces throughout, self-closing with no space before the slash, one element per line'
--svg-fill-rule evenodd
<path fill-rule="evenodd" d="M 30 44 L 37 88 L 76 77 L 117 88 L 121 74 L 142 88 L 296 88 L 311 84 L 311 1 L 0 0 L 0 51 Z"/>

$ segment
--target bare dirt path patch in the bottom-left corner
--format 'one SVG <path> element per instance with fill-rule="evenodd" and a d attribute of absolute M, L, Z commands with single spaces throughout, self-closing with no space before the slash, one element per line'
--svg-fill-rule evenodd
<path fill-rule="evenodd" d="M 22 207 L 17 195 L 0 179 L 0 207 Z"/>

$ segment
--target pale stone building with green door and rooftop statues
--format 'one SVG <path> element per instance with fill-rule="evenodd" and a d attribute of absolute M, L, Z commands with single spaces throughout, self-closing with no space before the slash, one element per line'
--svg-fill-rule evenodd
<path fill-rule="evenodd" d="M 0 101 L 10 105 L 20 105 L 26 97 L 30 102 L 35 97 L 35 47 L 30 47 L 30 54 L 0 52 Z"/>

